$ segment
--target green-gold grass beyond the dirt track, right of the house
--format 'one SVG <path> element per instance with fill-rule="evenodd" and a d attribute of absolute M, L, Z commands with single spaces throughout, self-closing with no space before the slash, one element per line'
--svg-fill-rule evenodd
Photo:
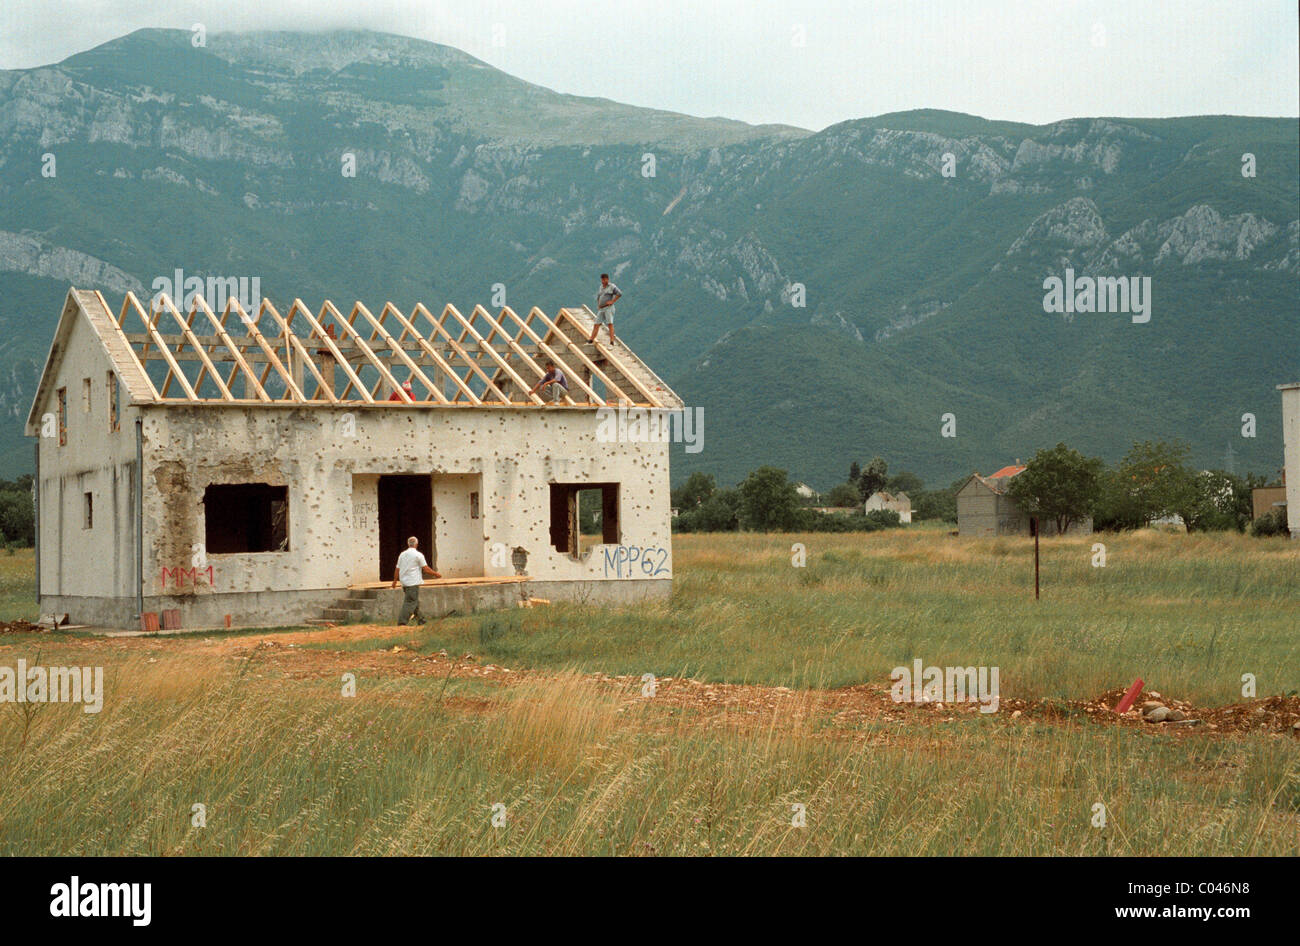
<path fill-rule="evenodd" d="M 790 563 L 796 542 L 803 568 Z M 673 552 L 671 602 L 452 619 L 419 639 L 512 667 L 796 689 L 885 681 L 920 658 L 998 667 L 1008 697 L 1086 699 L 1143 677 L 1222 704 L 1242 698 L 1244 673 L 1260 695 L 1300 690 L 1300 543 L 1283 539 L 1044 539 L 1041 600 L 1023 538 L 679 535 Z"/>

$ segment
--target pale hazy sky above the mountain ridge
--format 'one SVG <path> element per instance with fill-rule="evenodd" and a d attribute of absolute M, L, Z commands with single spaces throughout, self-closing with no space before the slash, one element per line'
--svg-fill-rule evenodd
<path fill-rule="evenodd" d="M 1296 0 L 3 0 L 0 68 L 146 26 L 364 27 L 459 47 L 560 92 L 822 129 L 944 108 L 1300 114 Z M 495 42 L 494 42 L 495 40 Z"/>

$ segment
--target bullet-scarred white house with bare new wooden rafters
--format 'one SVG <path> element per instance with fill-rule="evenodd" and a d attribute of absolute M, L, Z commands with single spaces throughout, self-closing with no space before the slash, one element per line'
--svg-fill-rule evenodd
<path fill-rule="evenodd" d="M 585 307 L 217 313 L 131 294 L 114 314 L 69 291 L 26 428 L 40 611 L 109 628 L 387 621 L 408 535 L 443 576 L 426 615 L 667 595 L 663 431 L 682 404 L 592 326 Z M 547 360 L 568 379 L 558 403 L 529 394 Z M 601 437 L 611 408 L 659 433 Z"/>

